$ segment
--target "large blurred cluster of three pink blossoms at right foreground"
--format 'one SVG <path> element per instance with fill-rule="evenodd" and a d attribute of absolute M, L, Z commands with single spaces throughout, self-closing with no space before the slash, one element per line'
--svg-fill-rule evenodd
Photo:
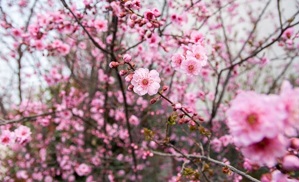
<path fill-rule="evenodd" d="M 273 166 L 287 154 L 287 137 L 299 129 L 299 88 L 284 81 L 280 95 L 244 91 L 226 111 L 235 145 L 260 165 Z"/>

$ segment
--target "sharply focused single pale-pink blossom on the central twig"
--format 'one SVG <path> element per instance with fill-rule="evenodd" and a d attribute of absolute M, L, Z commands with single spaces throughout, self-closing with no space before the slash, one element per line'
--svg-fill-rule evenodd
<path fill-rule="evenodd" d="M 140 96 L 148 93 L 150 96 L 156 94 L 160 88 L 161 79 L 156 70 L 147 68 L 139 68 L 134 72 L 131 84 L 134 86 L 133 90 Z"/>

